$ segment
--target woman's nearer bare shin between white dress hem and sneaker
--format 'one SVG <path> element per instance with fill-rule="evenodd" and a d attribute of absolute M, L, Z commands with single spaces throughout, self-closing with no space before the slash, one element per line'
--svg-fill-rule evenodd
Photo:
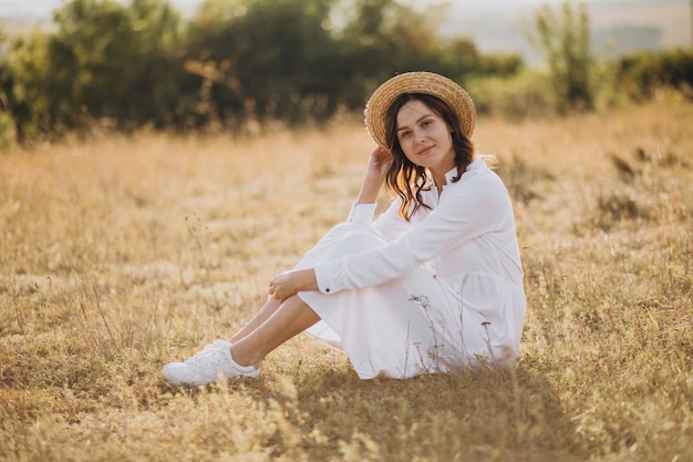
<path fill-rule="evenodd" d="M 266 312 L 269 312 L 270 308 L 270 302 L 263 307 Z M 301 333 L 319 320 L 320 317 L 316 311 L 298 296 L 289 297 L 275 308 L 273 312 L 257 328 L 239 340 L 231 341 L 231 356 L 240 366 L 257 365 L 275 348 Z M 255 318 L 251 322 L 254 321 Z"/>

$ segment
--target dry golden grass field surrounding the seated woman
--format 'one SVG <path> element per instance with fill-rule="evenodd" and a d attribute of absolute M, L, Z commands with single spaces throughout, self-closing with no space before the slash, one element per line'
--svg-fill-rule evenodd
<path fill-rule="evenodd" d="M 516 207 L 520 358 L 406 381 L 360 381 L 303 336 L 256 381 L 161 377 L 345 217 L 358 123 L 0 154 L 0 460 L 692 461 L 691 121 L 673 96 L 482 119 Z"/>

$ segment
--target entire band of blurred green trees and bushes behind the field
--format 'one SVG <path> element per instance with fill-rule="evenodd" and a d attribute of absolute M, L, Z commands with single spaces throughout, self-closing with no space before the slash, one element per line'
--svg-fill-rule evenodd
<path fill-rule="evenodd" d="M 438 18 L 439 19 L 439 18 Z M 483 54 L 465 35 L 396 0 L 206 0 L 183 18 L 166 0 L 71 0 L 55 28 L 2 39 L 0 147 L 142 127 L 262 130 L 358 114 L 397 72 L 428 70 L 466 86 L 479 112 L 555 115 L 692 96 L 693 52 L 598 60 L 583 7 L 537 11 L 527 28 L 546 57 Z"/>

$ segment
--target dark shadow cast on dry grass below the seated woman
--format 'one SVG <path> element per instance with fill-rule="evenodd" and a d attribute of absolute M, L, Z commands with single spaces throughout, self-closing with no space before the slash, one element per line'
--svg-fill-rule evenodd
<path fill-rule="evenodd" d="M 272 393 L 273 381 L 247 391 L 280 403 L 310 460 L 583 459 L 555 390 L 529 366 L 366 381 L 341 368 L 292 381 L 289 393 Z M 279 428 L 272 439 L 278 454 L 291 450 L 285 437 Z"/>

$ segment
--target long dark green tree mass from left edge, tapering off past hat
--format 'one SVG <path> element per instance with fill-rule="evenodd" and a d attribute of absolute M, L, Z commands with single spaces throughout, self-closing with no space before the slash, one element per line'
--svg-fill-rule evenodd
<path fill-rule="evenodd" d="M 94 121 L 125 130 L 323 122 L 361 111 L 397 72 L 462 82 L 521 65 L 482 55 L 468 38 L 442 38 L 435 18 L 397 0 L 206 0 L 186 23 L 167 1 L 69 0 L 54 32 L 15 41 L 0 104 L 18 135 Z"/>

